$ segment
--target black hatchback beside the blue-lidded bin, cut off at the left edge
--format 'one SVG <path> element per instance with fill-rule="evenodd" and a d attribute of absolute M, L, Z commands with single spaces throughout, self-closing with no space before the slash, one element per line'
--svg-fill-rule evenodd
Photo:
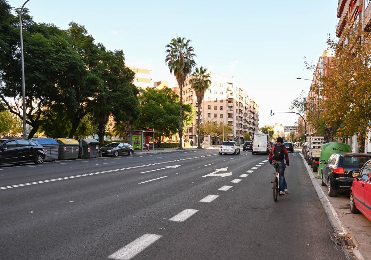
<path fill-rule="evenodd" d="M 42 164 L 45 159 L 44 148 L 36 141 L 27 139 L 1 139 L 0 165 L 20 165 L 25 162 Z"/>

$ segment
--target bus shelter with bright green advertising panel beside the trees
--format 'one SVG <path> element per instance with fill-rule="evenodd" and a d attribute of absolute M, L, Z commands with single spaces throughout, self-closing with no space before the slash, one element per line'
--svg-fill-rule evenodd
<path fill-rule="evenodd" d="M 150 150 L 150 143 L 152 142 L 151 150 L 155 150 L 155 133 L 153 129 L 150 130 L 131 130 L 129 132 L 130 143 L 134 147 L 134 152 L 143 152 Z"/>

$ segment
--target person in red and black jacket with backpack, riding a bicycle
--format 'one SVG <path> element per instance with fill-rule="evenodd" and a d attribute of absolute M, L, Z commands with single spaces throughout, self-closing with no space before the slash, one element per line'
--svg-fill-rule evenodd
<path fill-rule="evenodd" d="M 277 166 L 274 166 L 275 168 L 278 167 L 279 172 L 279 193 L 280 195 L 289 194 L 290 192 L 287 190 L 287 183 L 285 181 L 285 162 L 284 159 L 286 159 L 286 165 L 289 166 L 289 155 L 287 153 L 286 147 L 282 144 L 283 139 L 282 137 L 277 138 L 277 143 L 272 146 L 269 153 L 269 165 L 273 165 L 272 162 L 277 163 Z"/>

